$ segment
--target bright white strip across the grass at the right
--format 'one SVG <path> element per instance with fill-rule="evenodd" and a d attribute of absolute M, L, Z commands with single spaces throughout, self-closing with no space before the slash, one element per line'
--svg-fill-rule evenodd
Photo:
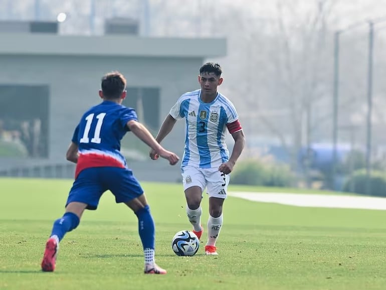
<path fill-rule="evenodd" d="M 300 207 L 386 210 L 386 198 L 382 197 L 268 192 L 229 192 L 228 195 L 251 201 Z"/>

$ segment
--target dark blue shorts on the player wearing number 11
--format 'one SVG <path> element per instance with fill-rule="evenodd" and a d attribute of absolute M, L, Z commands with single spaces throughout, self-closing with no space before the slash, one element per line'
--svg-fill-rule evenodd
<path fill-rule="evenodd" d="M 128 202 L 143 194 L 133 172 L 118 167 L 93 167 L 82 170 L 68 195 L 70 202 L 87 204 L 86 209 L 95 210 L 102 194 L 110 190 L 117 203 Z"/>

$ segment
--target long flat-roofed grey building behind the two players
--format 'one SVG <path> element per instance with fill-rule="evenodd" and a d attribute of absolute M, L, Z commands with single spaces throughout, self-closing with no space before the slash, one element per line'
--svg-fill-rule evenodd
<path fill-rule="evenodd" d="M 139 37 L 124 24 L 110 22 L 102 36 L 63 36 L 49 22 L 0 23 L 0 175 L 72 177 L 65 153 L 82 113 L 100 101 L 105 73 L 125 75 L 124 104 L 155 134 L 177 98 L 198 88 L 205 59 L 226 54 L 225 39 Z M 178 122 L 164 147 L 181 156 L 183 136 Z M 122 152 L 141 180 L 180 176 L 178 167 L 151 162 L 130 134 Z"/>

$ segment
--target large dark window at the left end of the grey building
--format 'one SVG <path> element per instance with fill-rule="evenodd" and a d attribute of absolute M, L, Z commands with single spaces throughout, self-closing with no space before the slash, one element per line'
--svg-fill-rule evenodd
<path fill-rule="evenodd" d="M 0 85 L 0 157 L 48 157 L 49 87 Z"/>

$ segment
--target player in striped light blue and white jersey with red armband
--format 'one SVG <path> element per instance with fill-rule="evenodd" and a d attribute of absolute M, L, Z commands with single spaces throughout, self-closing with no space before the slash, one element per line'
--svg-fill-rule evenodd
<path fill-rule="evenodd" d="M 216 241 L 223 225 L 223 204 L 227 198 L 230 173 L 240 157 L 245 136 L 235 106 L 217 88 L 223 82 L 217 63 L 200 68 L 201 89 L 183 94 L 170 109 L 155 139 L 161 142 L 175 122 L 186 121 L 185 149 L 181 163 L 186 198 L 186 215 L 193 232 L 201 238 L 201 200 L 205 189 L 209 195 L 208 241 L 205 253 L 217 255 Z M 231 156 L 225 143 L 226 130 L 235 140 Z M 158 159 L 155 150 L 150 158 Z"/>

